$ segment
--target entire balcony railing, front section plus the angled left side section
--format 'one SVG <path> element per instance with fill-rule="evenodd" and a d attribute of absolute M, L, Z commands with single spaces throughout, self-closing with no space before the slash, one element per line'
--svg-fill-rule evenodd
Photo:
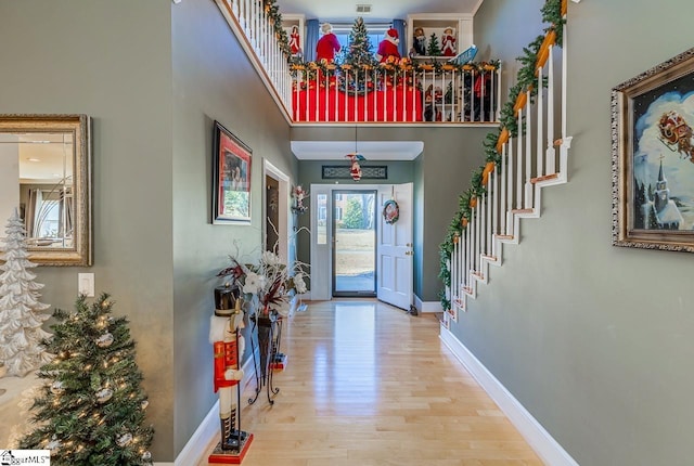
<path fill-rule="evenodd" d="M 497 122 L 497 63 L 291 63 L 262 0 L 216 0 L 291 122 Z"/>

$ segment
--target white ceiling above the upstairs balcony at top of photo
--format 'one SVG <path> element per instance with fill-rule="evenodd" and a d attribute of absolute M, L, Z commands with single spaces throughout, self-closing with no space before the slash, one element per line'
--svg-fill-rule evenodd
<path fill-rule="evenodd" d="M 362 15 L 365 22 L 407 20 L 413 13 L 467 13 L 475 14 L 483 0 L 278 0 L 280 13 L 304 14 L 307 20 L 346 20 L 357 17 L 358 4 L 370 4 L 371 14 Z"/>

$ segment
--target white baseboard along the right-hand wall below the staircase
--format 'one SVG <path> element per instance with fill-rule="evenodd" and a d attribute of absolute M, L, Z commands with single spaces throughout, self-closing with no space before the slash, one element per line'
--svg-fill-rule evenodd
<path fill-rule="evenodd" d="M 467 372 L 477 380 L 511 423 L 518 429 L 530 448 L 548 465 L 578 466 L 556 440 L 537 422 L 487 367 L 446 327 L 440 327 L 441 341 L 453 352 Z"/>

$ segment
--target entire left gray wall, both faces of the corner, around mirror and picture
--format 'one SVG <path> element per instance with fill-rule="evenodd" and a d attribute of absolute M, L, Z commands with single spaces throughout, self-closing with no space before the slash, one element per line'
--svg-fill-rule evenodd
<path fill-rule="evenodd" d="M 37 269 L 41 300 L 72 310 L 78 272 L 113 295 L 138 342 L 154 459 L 174 461 L 216 401 L 214 275 L 234 238 L 260 245 L 262 159 L 296 178 L 288 125 L 211 0 L 2 1 L 0 41 L 2 113 L 94 121 L 94 266 Z M 215 119 L 254 151 L 249 226 L 210 224 Z"/>

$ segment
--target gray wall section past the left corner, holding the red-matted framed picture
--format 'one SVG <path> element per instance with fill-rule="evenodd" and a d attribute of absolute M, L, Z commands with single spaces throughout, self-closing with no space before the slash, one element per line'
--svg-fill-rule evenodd
<path fill-rule="evenodd" d="M 290 127 L 214 1 L 171 10 L 174 66 L 174 335 L 175 443 L 180 453 L 217 400 L 213 391 L 209 318 L 215 274 L 261 245 L 262 160 L 292 179 Z M 210 224 L 213 124 L 253 150 L 252 224 Z M 246 341 L 249 341 L 246 338 Z M 247 345 L 246 354 L 250 345 Z"/>

